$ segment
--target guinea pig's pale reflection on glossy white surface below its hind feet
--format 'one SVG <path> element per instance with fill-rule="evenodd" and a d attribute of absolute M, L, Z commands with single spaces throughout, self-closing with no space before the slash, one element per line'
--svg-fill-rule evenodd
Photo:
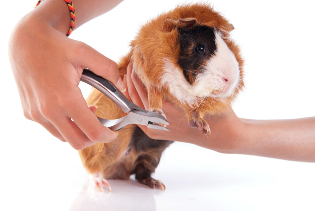
<path fill-rule="evenodd" d="M 71 211 L 77 210 L 156 210 L 154 195 L 161 190 L 153 190 L 135 180 L 108 180 L 112 192 L 100 192 L 87 181 L 72 203 Z"/>

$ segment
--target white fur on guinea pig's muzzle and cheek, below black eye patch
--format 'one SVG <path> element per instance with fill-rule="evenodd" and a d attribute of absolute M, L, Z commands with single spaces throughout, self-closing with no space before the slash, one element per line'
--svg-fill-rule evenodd
<path fill-rule="evenodd" d="M 190 85 L 180 68 L 176 68 L 165 58 L 162 84 L 169 87 L 170 93 L 181 103 L 195 104 L 199 98 L 215 97 L 223 99 L 233 94 L 239 80 L 239 67 L 235 55 L 215 31 L 216 51 L 203 66 L 193 85 Z M 225 81 L 225 79 L 227 81 Z M 214 91 L 222 92 L 214 95 Z"/>

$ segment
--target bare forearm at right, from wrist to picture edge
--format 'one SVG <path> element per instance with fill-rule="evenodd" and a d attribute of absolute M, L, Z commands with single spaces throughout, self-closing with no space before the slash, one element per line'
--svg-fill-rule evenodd
<path fill-rule="evenodd" d="M 238 153 L 315 162 L 315 117 L 244 122 Z"/>

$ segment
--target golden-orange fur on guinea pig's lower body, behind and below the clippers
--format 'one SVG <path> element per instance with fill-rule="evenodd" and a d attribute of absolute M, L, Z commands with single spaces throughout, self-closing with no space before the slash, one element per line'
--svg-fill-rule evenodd
<path fill-rule="evenodd" d="M 104 119 L 118 119 L 126 115 L 115 103 L 98 90 L 94 90 L 91 93 L 87 99 L 87 103 L 97 106 L 95 114 Z M 119 158 L 128 147 L 134 127 L 135 125 L 128 125 L 121 129 L 117 138 L 109 144 L 99 142 L 92 147 L 80 150 L 79 155 L 87 171 L 89 173 L 101 172 L 104 177 L 111 178 L 112 174 L 120 168 Z M 128 159 L 131 163 L 136 158 L 134 152 L 129 153 Z M 126 160 L 121 160 L 121 162 L 125 163 Z M 127 179 L 126 173 L 123 171 L 122 175 L 117 175 L 117 177 Z"/>

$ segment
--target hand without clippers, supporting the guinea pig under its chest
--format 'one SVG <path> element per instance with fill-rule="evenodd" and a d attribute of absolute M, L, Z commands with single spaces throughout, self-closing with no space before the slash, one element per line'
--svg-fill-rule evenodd
<path fill-rule="evenodd" d="M 128 65 L 124 79 L 128 92 L 127 97 L 136 105 L 148 110 L 148 99 L 144 85 L 132 71 L 132 64 Z M 225 114 L 210 115 L 205 119 L 210 126 L 211 135 L 204 136 L 200 130 L 188 125 L 186 113 L 177 108 L 175 103 L 163 101 L 163 111 L 169 121 L 169 131 L 154 130 L 144 125 L 138 125 L 149 137 L 158 140 L 172 140 L 188 142 L 222 153 L 234 153 L 240 145 L 238 137 L 243 131 L 243 122 L 236 116 L 232 108 Z"/>

